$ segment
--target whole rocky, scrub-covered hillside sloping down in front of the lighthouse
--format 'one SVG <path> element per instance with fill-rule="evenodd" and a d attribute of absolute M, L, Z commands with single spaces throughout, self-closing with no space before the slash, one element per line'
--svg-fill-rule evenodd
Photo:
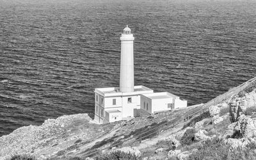
<path fill-rule="evenodd" d="M 0 138 L 0 159 L 97 159 L 119 151 L 134 152 L 135 159 L 250 159 L 256 155 L 255 79 L 204 105 L 154 116 L 97 125 L 78 114 L 21 127 Z"/>

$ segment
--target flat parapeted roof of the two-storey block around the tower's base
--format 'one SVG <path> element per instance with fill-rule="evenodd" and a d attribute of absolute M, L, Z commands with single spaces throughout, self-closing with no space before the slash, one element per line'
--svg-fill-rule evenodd
<path fill-rule="evenodd" d="M 141 95 L 145 93 L 153 93 L 154 91 L 145 86 L 134 86 L 134 92 L 120 92 L 119 87 L 95 88 L 94 92 L 99 93 L 104 97 L 114 97 L 121 95 Z"/>

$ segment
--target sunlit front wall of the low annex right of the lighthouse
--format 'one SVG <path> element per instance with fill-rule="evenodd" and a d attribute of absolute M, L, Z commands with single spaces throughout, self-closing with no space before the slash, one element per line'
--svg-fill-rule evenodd
<path fill-rule="evenodd" d="M 173 104 L 173 99 L 152 99 L 152 110 L 151 113 L 156 111 L 168 111 L 171 108 L 168 108 L 168 104 Z"/>

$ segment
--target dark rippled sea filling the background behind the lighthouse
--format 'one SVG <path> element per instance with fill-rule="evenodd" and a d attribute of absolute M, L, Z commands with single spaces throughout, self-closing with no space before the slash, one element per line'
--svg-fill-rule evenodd
<path fill-rule="evenodd" d="M 255 0 L 0 0 L 0 136 L 93 113 L 126 25 L 136 85 L 205 103 L 256 76 L 255 24 Z"/>

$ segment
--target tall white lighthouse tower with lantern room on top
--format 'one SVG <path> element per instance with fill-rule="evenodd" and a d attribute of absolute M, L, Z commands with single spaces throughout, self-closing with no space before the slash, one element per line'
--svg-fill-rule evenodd
<path fill-rule="evenodd" d="M 134 92 L 133 40 L 131 29 L 126 26 L 121 40 L 120 92 Z"/>

